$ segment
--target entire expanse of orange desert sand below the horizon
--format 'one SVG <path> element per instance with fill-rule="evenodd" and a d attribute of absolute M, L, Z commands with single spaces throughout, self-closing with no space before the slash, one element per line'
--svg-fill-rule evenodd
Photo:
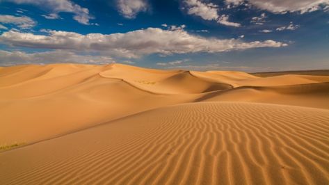
<path fill-rule="evenodd" d="M 0 67 L 0 145 L 0 184 L 329 184 L 329 76 Z"/>

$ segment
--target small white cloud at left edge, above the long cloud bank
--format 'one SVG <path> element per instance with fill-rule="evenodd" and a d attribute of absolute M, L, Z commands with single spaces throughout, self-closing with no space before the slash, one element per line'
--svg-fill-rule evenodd
<path fill-rule="evenodd" d="M 13 15 L 0 15 L 0 22 L 2 24 L 13 24 L 20 29 L 31 29 L 36 24 L 30 17 L 15 17 Z"/>

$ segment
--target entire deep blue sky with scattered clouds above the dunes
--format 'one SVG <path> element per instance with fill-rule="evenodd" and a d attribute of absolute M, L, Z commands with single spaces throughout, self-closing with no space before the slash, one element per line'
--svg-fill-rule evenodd
<path fill-rule="evenodd" d="M 0 0 L 0 65 L 329 69 L 329 0 Z"/>

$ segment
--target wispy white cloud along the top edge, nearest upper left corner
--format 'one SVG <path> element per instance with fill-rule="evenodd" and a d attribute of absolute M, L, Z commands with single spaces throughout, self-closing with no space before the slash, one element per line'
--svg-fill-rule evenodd
<path fill-rule="evenodd" d="M 87 8 L 82 8 L 77 3 L 70 0 L 3 0 L 17 4 L 31 4 L 42 9 L 49 10 L 51 13 L 44 16 L 47 19 L 58 19 L 58 13 L 73 13 L 73 19 L 81 24 L 89 24 L 93 16 L 89 15 Z"/>

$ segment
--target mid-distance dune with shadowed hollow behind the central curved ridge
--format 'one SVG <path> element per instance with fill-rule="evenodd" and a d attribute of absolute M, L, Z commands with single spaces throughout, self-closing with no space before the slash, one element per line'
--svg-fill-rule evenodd
<path fill-rule="evenodd" d="M 100 72 L 99 75 L 107 79 L 121 79 L 140 90 L 155 94 L 198 94 L 233 88 L 228 83 L 197 77 L 190 71 L 149 71 L 133 68 L 128 70 L 127 75 L 128 72 L 122 72 L 120 68 L 118 71 L 121 66 L 116 66 L 115 70 Z"/>

